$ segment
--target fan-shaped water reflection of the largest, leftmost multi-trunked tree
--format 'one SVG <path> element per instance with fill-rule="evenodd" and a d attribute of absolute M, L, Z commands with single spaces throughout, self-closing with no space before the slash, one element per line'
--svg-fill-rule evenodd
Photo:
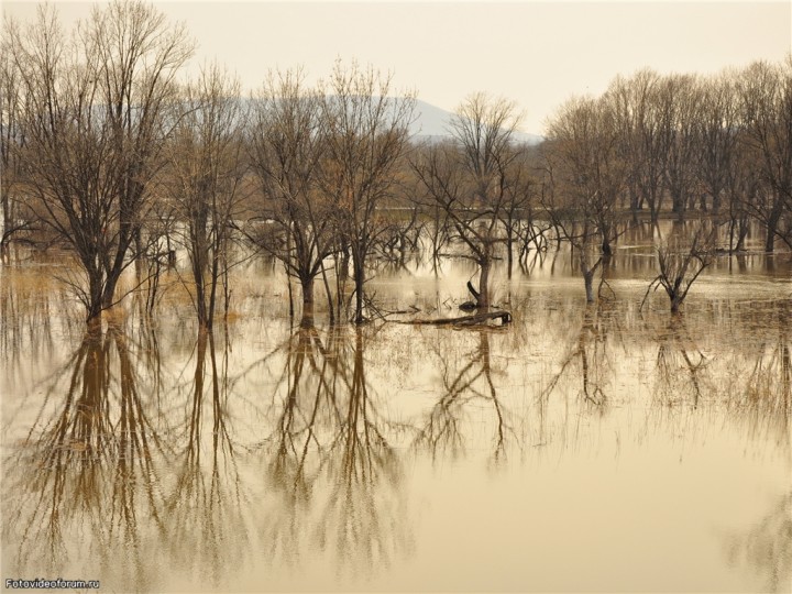
<path fill-rule="evenodd" d="M 121 546 L 130 563 L 117 570 L 145 583 L 138 520 L 162 522 L 155 485 L 165 444 L 139 373 L 111 326 L 90 328 L 55 375 L 28 438 L 7 459 L 3 539 L 18 543 L 16 571 L 41 571 L 42 551 L 52 571 L 72 566 L 84 549 L 110 564 Z"/>

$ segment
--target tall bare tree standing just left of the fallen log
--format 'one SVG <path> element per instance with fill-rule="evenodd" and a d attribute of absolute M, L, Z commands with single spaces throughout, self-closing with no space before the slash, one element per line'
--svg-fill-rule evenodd
<path fill-rule="evenodd" d="M 364 316 L 366 258 L 382 229 L 380 202 L 392 195 L 394 172 L 405 154 L 415 96 L 389 97 L 392 77 L 356 63 L 340 62 L 320 85 L 321 117 L 327 125 L 321 187 L 336 205 L 337 233 L 352 254 L 354 321 Z"/>

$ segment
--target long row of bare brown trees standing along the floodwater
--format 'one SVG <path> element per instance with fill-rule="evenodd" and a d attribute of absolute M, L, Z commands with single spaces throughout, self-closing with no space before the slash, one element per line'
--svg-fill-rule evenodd
<path fill-rule="evenodd" d="M 143 2 L 96 8 L 72 31 L 48 6 L 3 23 L 0 242 L 72 252 L 80 275 L 64 280 L 89 322 L 123 298 L 129 267 L 153 307 L 176 246 L 208 329 L 250 246 L 296 279 L 307 320 L 320 284 L 331 322 L 370 318 L 372 260 L 418 246 L 435 265 L 449 251 L 476 263 L 479 309 L 495 258 L 510 274 L 553 239 L 579 254 L 593 300 L 625 226 L 667 212 L 706 213 L 730 251 L 751 222 L 768 252 L 792 248 L 792 55 L 712 77 L 617 77 L 564 103 L 529 146 L 516 105 L 483 92 L 463 100 L 448 139 L 419 142 L 416 94 L 373 67 L 337 62 L 312 86 L 300 69 L 273 70 L 243 97 L 217 64 L 185 81 L 194 51 Z M 681 280 L 691 258 L 706 264 L 701 244 L 673 264 Z M 658 280 L 673 287 L 669 274 Z"/>

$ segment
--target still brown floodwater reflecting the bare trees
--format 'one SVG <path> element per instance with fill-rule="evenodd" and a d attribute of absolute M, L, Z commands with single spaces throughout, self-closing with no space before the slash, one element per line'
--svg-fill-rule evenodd
<path fill-rule="evenodd" d="M 62 258 L 0 266 L 3 585 L 790 592 L 790 257 L 719 258 L 678 318 L 653 265 L 624 241 L 588 307 L 566 253 L 501 270 L 503 329 L 332 329 L 256 261 L 211 337 L 175 273 L 86 333 Z M 473 272 L 370 292 L 452 316 Z"/>

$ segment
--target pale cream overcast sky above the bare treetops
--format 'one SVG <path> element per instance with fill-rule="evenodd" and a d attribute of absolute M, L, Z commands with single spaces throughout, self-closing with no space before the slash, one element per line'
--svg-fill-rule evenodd
<path fill-rule="evenodd" d="M 88 2 L 55 2 L 65 23 Z M 394 74 L 397 88 L 453 110 L 485 90 L 517 102 L 522 130 L 573 95 L 601 94 L 618 74 L 716 73 L 792 48 L 792 1 L 154 2 L 184 21 L 196 64 L 217 58 L 246 88 L 268 68 L 304 66 L 311 80 L 337 57 Z M 2 2 L 26 19 L 35 2 Z"/>

